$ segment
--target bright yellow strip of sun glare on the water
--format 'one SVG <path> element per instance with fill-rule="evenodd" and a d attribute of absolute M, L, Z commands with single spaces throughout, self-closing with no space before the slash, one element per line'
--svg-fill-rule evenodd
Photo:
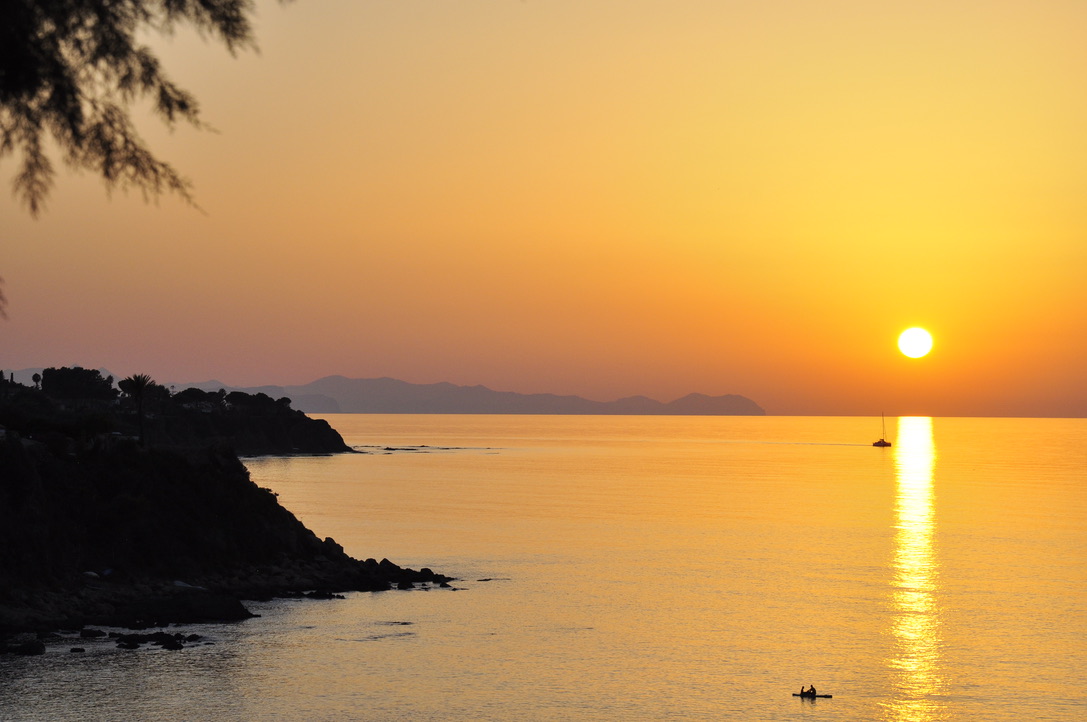
<path fill-rule="evenodd" d="M 933 469 L 936 445 L 933 420 L 898 420 L 895 443 L 895 556 L 892 561 L 890 665 L 897 671 L 889 719 L 930 722 L 942 719 L 934 699 L 944 688 L 940 676 L 939 564 L 934 537 L 936 519 Z"/>

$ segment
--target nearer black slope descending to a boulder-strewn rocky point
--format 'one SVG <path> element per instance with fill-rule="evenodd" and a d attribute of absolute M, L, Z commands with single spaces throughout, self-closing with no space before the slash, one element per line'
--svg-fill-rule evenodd
<path fill-rule="evenodd" d="M 38 653 L 58 630 L 240 621 L 246 600 L 452 581 L 317 538 L 233 448 L 68 428 L 0 427 L 0 652 Z"/>

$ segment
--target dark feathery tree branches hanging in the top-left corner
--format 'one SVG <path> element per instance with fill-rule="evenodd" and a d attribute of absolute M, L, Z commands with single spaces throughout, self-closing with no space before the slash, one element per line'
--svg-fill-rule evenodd
<path fill-rule="evenodd" d="M 13 186 L 32 215 L 53 185 L 47 136 L 108 188 L 191 200 L 190 183 L 145 146 L 128 107 L 148 99 L 166 125 L 202 127 L 197 101 L 137 36 L 189 24 L 233 54 L 254 46 L 252 12 L 253 0 L 0 0 L 0 160 L 22 152 Z"/>

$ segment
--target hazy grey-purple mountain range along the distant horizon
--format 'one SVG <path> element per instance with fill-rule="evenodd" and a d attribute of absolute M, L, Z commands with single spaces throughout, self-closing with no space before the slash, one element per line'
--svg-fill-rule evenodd
<path fill-rule="evenodd" d="M 325 376 L 303 386 L 232 388 L 220 382 L 178 384 L 204 390 L 240 390 L 289 397 L 291 406 L 308 413 L 524 413 L 524 414 L 659 414 L 764 415 L 758 403 L 744 396 L 689 394 L 662 403 L 645 396 L 616 401 L 592 401 L 579 396 L 516 394 L 486 386 L 410 384 L 396 378 Z"/>

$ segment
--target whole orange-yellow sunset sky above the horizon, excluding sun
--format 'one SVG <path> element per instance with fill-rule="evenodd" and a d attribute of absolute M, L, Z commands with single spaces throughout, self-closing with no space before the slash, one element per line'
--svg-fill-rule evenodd
<path fill-rule="evenodd" d="M 1085 416 L 1085 27 L 1080 0 L 260 0 L 259 54 L 149 36 L 216 129 L 140 122 L 202 210 L 54 157 L 35 220 L 0 163 L 0 365 Z"/>

